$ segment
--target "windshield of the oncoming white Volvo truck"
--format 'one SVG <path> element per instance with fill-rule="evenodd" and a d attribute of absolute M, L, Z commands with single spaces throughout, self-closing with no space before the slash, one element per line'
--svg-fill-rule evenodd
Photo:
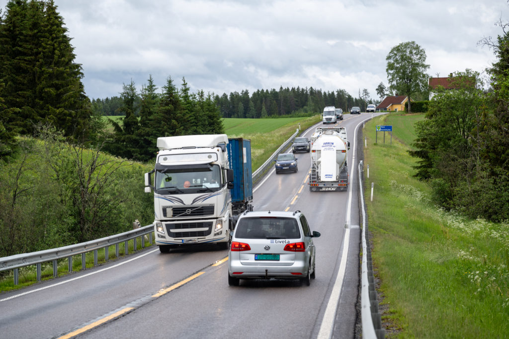
<path fill-rule="evenodd" d="M 180 167 L 180 166 L 179 166 Z M 155 190 L 159 194 L 215 192 L 221 187 L 218 165 L 201 168 L 156 169 Z"/>

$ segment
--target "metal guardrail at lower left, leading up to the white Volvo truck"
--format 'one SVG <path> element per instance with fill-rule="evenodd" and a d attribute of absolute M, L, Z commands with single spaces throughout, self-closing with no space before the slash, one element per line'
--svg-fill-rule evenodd
<path fill-rule="evenodd" d="M 137 228 L 132 231 L 111 235 L 97 240 L 81 242 L 74 245 L 68 245 L 56 249 L 44 250 L 32 253 L 16 254 L 10 257 L 0 258 L 0 272 L 6 270 L 14 270 L 14 285 L 18 285 L 19 268 L 37 265 L 37 281 L 41 281 L 41 264 L 45 262 L 53 262 L 53 277 L 58 276 L 58 260 L 68 260 L 69 272 L 72 272 L 72 257 L 81 254 L 81 268 L 86 268 L 86 254 L 94 251 L 94 266 L 98 264 L 98 251 L 104 249 L 104 258 L 108 261 L 108 248 L 115 245 L 115 252 L 119 257 L 119 244 L 124 242 L 125 254 L 128 254 L 128 241 L 134 241 L 134 251 L 137 249 L 136 238 L 142 237 L 142 248 L 145 247 L 145 235 L 149 234 L 149 242 L 152 244 L 153 224 L 145 227 Z"/>

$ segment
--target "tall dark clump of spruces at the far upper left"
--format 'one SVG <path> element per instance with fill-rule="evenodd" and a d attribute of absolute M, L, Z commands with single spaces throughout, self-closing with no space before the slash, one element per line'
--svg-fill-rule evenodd
<path fill-rule="evenodd" d="M 0 25 L 7 130 L 32 134 L 36 122 L 49 121 L 67 136 L 88 133 L 90 101 L 70 40 L 52 0 L 9 1 Z"/>

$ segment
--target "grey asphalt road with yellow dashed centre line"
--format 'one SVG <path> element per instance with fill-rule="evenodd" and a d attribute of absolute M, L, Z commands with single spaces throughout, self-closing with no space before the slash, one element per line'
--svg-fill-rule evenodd
<path fill-rule="evenodd" d="M 204 245 L 161 254 L 149 248 L 0 294 L 0 337 L 354 337 L 360 230 L 352 155 L 363 147 L 354 142 L 354 128 L 371 116 L 346 114 L 336 124 L 346 127 L 352 147 L 348 191 L 310 192 L 309 153 L 297 153 L 297 173 L 272 170 L 254 188 L 255 210 L 301 210 L 311 230 L 321 233 L 314 239 L 311 286 L 241 280 L 230 287 L 227 250 Z"/>

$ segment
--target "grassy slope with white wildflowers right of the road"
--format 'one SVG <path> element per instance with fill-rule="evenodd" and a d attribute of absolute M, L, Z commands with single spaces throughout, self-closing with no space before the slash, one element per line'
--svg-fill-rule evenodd
<path fill-rule="evenodd" d="M 509 222 L 469 220 L 434 205 L 428 184 L 413 177 L 417 159 L 407 153 L 420 119 L 392 113 L 364 129 L 365 196 L 387 337 L 507 337 Z M 383 132 L 375 144 L 376 125 L 393 126 L 392 145 L 387 135 L 382 143 Z"/>

